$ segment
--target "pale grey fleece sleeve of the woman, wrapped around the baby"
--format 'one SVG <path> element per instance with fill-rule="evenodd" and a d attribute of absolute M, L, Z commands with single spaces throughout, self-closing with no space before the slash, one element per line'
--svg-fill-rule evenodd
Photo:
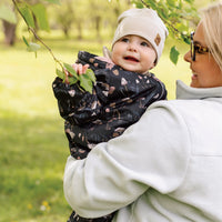
<path fill-rule="evenodd" d="M 87 159 L 68 158 L 64 195 L 78 214 L 109 214 L 150 188 L 170 193 L 182 183 L 190 135 L 183 118 L 164 104 L 157 102 L 139 122 L 119 138 L 98 144 Z"/>

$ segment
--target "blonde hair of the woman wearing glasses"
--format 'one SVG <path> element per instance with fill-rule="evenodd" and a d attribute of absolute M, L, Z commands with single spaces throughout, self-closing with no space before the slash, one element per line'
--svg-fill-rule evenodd
<path fill-rule="evenodd" d="M 206 46 L 222 71 L 222 2 L 201 10 L 201 19 Z"/>

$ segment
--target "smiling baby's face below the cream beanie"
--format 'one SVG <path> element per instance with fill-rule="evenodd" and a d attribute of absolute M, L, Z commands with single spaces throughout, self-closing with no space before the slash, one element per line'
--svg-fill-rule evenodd
<path fill-rule="evenodd" d="M 157 53 L 148 40 L 132 34 L 114 43 L 111 59 L 124 70 L 144 73 L 154 67 Z"/>

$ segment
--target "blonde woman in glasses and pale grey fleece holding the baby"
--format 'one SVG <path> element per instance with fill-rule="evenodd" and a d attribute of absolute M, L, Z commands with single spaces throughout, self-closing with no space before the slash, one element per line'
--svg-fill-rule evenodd
<path fill-rule="evenodd" d="M 222 221 L 221 36 L 218 3 L 203 11 L 184 56 L 191 87 L 178 81 L 178 100 L 153 103 L 87 159 L 68 159 L 64 194 L 80 215 L 120 209 L 115 222 Z"/>

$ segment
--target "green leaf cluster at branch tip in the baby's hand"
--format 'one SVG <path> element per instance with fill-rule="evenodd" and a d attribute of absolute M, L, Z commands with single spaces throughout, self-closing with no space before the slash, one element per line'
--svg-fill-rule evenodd
<path fill-rule="evenodd" d="M 79 75 L 70 64 L 63 63 L 63 65 L 64 65 L 64 69 L 70 73 L 70 75 L 67 77 L 63 71 L 60 71 L 59 69 L 57 69 L 56 72 L 60 79 L 65 81 L 65 78 L 68 78 L 67 80 L 69 81 L 69 84 L 74 84 L 79 81 L 80 87 L 84 91 L 92 93 L 93 82 L 95 82 L 95 77 L 92 70 L 88 69 L 84 74 Z"/>

